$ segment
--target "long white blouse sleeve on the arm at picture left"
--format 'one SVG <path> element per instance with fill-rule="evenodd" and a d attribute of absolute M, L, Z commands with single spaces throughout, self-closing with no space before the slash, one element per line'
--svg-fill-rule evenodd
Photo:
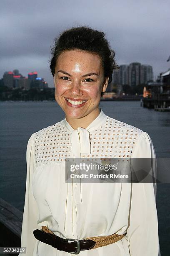
<path fill-rule="evenodd" d="M 22 225 L 22 233 L 21 233 L 21 247 L 26 247 L 26 255 L 32 256 L 35 243 L 37 243 L 37 239 L 33 235 L 33 231 L 35 229 L 39 229 L 40 227 L 37 225 L 37 220 L 39 218 L 39 212 L 37 208 L 37 203 L 33 196 L 32 192 L 32 174 L 35 170 L 35 154 L 34 154 L 34 136 L 35 133 L 32 134 L 28 141 L 27 145 L 27 178 L 26 178 L 26 190 L 25 190 L 25 205 L 23 212 L 23 225 Z M 25 255 L 20 253 L 19 256 Z"/>

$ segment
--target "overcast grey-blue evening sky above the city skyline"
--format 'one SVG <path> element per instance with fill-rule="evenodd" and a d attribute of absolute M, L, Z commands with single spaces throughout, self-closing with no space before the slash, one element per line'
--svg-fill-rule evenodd
<path fill-rule="evenodd" d="M 50 46 L 60 31 L 90 26 L 103 31 L 117 64 L 170 68 L 170 0 L 0 0 L 0 78 L 37 71 L 53 87 Z"/>

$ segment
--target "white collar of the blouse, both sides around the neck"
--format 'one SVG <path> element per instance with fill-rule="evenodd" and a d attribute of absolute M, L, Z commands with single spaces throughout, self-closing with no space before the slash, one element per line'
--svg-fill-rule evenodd
<path fill-rule="evenodd" d="M 100 109 L 100 114 L 93 120 L 90 125 L 87 126 L 85 130 L 87 131 L 93 131 L 100 127 L 107 119 L 107 115 Z M 67 122 L 66 118 L 64 118 L 64 125 L 67 128 L 67 130 L 72 133 L 72 131 L 75 131 L 72 126 Z"/>

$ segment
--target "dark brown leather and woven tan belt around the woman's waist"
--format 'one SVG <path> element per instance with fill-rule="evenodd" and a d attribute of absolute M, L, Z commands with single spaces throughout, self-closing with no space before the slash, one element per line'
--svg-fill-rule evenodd
<path fill-rule="evenodd" d="M 78 254 L 82 250 L 91 250 L 98 247 L 107 246 L 111 243 L 115 243 L 121 240 L 126 235 L 126 233 L 123 235 L 117 235 L 116 233 L 114 233 L 110 236 L 94 236 L 94 237 L 87 237 L 83 240 L 78 240 L 78 239 L 71 239 L 71 238 L 67 238 L 67 239 L 60 238 L 56 236 L 55 233 L 49 230 L 46 226 L 42 226 L 42 231 L 44 231 L 45 233 L 51 234 L 52 239 L 54 239 L 55 241 L 54 242 L 55 245 L 53 245 L 52 243 L 48 243 L 48 244 L 52 245 L 53 247 L 61 251 L 65 251 L 65 247 L 61 246 L 62 243 L 67 247 L 66 251 L 68 250 L 68 246 L 71 246 L 71 247 L 73 246 L 72 248 L 70 247 L 70 251 L 71 253 L 74 253 L 74 254 Z M 68 243 L 68 241 L 73 241 L 75 243 Z M 68 250 L 68 252 L 70 251 Z"/>

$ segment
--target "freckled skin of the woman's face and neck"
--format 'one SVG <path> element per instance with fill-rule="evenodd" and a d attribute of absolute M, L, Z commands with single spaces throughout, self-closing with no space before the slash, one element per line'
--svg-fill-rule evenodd
<path fill-rule="evenodd" d="M 85 76 L 91 73 L 97 75 Z M 80 50 L 63 52 L 55 66 L 54 84 L 55 100 L 73 129 L 86 128 L 100 114 L 101 92 L 105 92 L 108 78 L 104 78 L 99 56 Z M 67 105 L 65 98 L 87 102 L 80 108 L 73 108 Z"/>

